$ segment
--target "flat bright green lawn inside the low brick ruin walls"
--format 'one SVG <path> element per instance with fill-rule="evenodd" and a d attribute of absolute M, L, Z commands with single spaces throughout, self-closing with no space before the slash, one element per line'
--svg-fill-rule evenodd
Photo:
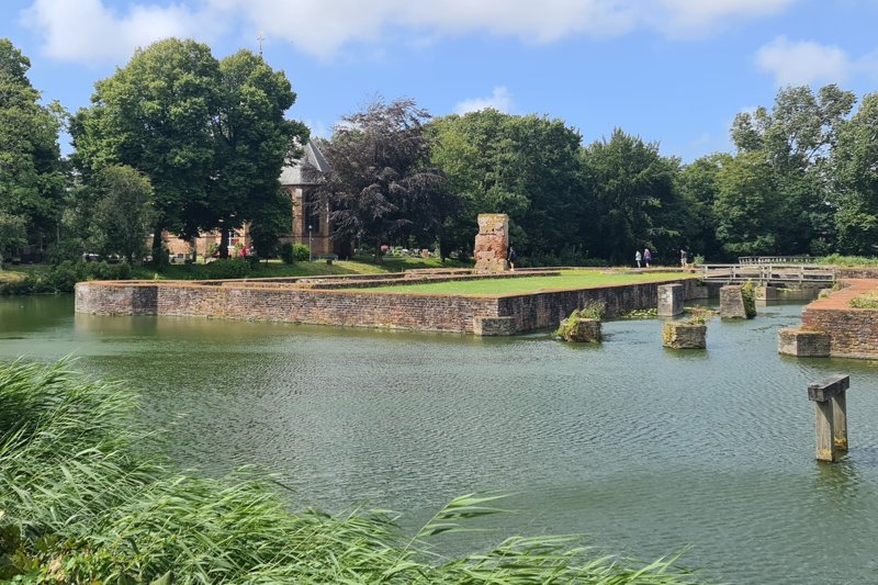
<path fill-rule="evenodd" d="M 436 282 L 430 284 L 403 284 L 380 286 L 370 291 L 384 292 L 425 292 L 437 294 L 517 294 L 556 289 L 586 289 L 610 284 L 632 284 L 678 278 L 694 278 L 689 272 L 649 272 L 649 273 L 604 273 L 599 270 L 564 270 L 558 277 L 522 277 L 517 279 L 483 279 L 466 281 Z"/>

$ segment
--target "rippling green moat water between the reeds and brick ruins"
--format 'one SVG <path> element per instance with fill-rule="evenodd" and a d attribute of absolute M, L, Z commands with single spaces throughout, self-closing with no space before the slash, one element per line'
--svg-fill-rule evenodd
<path fill-rule="evenodd" d="M 0 358 L 74 355 L 130 380 L 181 464 L 257 463 L 296 505 L 369 502 L 413 524 L 499 490 L 518 514 L 466 545 L 582 532 L 640 559 L 688 548 L 683 564 L 725 583 L 878 583 L 878 364 L 780 357 L 801 305 L 759 310 L 678 352 L 657 320 L 607 323 L 603 346 L 574 348 L 0 299 Z M 806 389 L 835 372 L 852 375 L 851 452 L 828 465 Z"/>

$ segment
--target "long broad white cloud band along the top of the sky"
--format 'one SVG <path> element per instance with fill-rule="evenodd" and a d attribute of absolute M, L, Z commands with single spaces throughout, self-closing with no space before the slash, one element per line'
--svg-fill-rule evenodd
<path fill-rule="evenodd" d="M 468 33 L 551 43 L 618 36 L 638 29 L 702 32 L 734 18 L 777 13 L 798 0 L 33 0 L 22 14 L 57 59 L 124 60 L 135 46 L 169 35 L 211 37 L 258 31 L 329 58 L 351 44 L 401 46 Z M 252 34 L 243 33 L 249 30 Z"/>

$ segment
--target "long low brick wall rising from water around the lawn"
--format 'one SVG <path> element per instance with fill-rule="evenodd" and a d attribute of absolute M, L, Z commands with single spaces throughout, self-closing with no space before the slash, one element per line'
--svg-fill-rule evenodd
<path fill-rule="evenodd" d="M 190 282 L 80 282 L 76 312 L 100 315 L 171 315 L 232 319 L 283 320 L 324 325 L 435 331 L 474 331 L 473 319 L 514 317 L 508 333 L 554 327 L 587 301 L 603 301 L 607 315 L 656 305 L 658 284 L 680 282 L 687 297 L 696 280 L 665 281 L 578 291 L 506 296 L 458 296 L 428 293 L 307 290 L 260 286 L 257 282 L 223 285 Z M 504 328 L 506 331 L 506 328 Z"/>

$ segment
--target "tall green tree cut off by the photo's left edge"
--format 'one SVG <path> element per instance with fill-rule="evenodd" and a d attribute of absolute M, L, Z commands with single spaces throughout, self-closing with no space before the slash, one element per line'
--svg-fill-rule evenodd
<path fill-rule="evenodd" d="M 24 222 L 27 239 L 42 244 L 55 234 L 64 193 L 58 148 L 64 110 L 38 103 L 30 67 L 11 42 L 0 40 L 0 213 L 7 225 Z"/>

